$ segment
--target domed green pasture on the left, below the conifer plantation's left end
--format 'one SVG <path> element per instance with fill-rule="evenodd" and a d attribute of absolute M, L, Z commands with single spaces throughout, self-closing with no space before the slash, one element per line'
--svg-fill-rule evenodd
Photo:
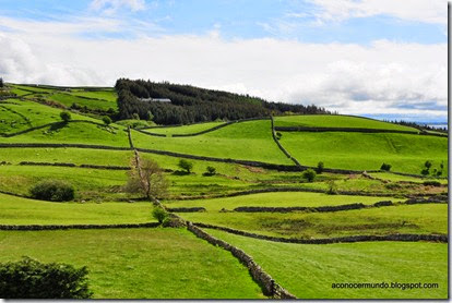
<path fill-rule="evenodd" d="M 4 143 L 79 143 L 129 147 L 127 132 L 84 122 L 69 122 L 3 138 Z"/>

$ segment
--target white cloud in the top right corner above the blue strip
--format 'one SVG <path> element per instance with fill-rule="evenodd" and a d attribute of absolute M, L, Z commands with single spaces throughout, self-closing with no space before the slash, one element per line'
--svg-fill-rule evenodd
<path fill-rule="evenodd" d="M 322 21 L 390 15 L 405 21 L 448 24 L 447 0 L 310 0 Z"/>

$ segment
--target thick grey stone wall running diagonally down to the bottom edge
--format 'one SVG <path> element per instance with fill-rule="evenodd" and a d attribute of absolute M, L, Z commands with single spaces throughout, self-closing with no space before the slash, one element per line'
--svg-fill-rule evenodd
<path fill-rule="evenodd" d="M 187 222 L 187 229 L 194 233 L 198 238 L 201 238 L 209 243 L 219 246 L 226 251 L 229 251 L 235 257 L 237 257 L 245 266 L 247 266 L 251 277 L 259 283 L 265 295 L 273 296 L 275 299 L 296 299 L 295 295 L 277 284 L 273 278 L 266 274 L 247 253 L 229 243 L 216 239 L 191 222 Z"/>

